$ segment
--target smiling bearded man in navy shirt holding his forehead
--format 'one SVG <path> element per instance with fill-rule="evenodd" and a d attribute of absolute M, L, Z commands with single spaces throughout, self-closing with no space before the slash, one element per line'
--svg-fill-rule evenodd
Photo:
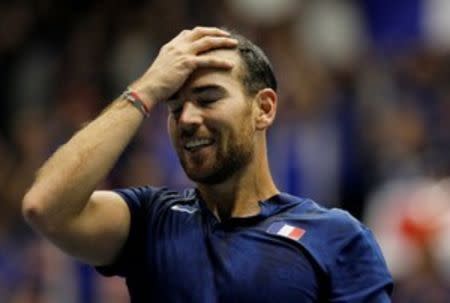
<path fill-rule="evenodd" d="M 196 188 L 95 191 L 159 102 Z M 276 108 L 259 48 L 217 28 L 183 31 L 44 164 L 24 216 L 67 253 L 125 277 L 132 302 L 389 302 L 371 233 L 275 186 L 266 130 Z"/>

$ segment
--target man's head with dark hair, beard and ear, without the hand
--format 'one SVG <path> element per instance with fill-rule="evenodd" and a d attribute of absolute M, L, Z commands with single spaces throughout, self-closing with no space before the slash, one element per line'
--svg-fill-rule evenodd
<path fill-rule="evenodd" d="M 233 34 L 235 49 L 204 55 L 234 63 L 231 70 L 198 69 L 168 101 L 169 131 L 188 177 L 219 184 L 261 161 L 265 130 L 276 112 L 276 81 L 269 60 Z"/>

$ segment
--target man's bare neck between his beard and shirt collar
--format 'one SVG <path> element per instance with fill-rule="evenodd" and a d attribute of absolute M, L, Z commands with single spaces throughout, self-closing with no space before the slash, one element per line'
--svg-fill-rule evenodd
<path fill-rule="evenodd" d="M 260 212 L 259 201 L 279 193 L 270 174 L 265 149 L 225 182 L 199 183 L 197 187 L 207 207 L 220 220 L 256 215 Z"/>

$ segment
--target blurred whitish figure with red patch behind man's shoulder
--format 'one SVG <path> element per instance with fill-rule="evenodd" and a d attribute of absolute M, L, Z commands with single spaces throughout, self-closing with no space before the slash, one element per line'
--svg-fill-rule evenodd
<path fill-rule="evenodd" d="M 394 302 L 450 300 L 449 180 L 395 181 L 369 200 L 366 222 L 397 280 Z"/>

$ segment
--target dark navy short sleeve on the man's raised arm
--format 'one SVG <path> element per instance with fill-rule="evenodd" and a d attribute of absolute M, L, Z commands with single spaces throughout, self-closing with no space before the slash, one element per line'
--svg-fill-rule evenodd
<path fill-rule="evenodd" d="M 141 261 L 145 258 L 146 224 L 151 214 L 161 206 L 160 196 L 165 189 L 145 187 L 131 187 L 114 190 L 128 205 L 130 211 L 130 231 L 127 241 L 113 264 L 96 267 L 105 276 L 119 275 L 127 277 L 142 268 Z M 141 266 L 139 266 L 141 264 Z"/>

